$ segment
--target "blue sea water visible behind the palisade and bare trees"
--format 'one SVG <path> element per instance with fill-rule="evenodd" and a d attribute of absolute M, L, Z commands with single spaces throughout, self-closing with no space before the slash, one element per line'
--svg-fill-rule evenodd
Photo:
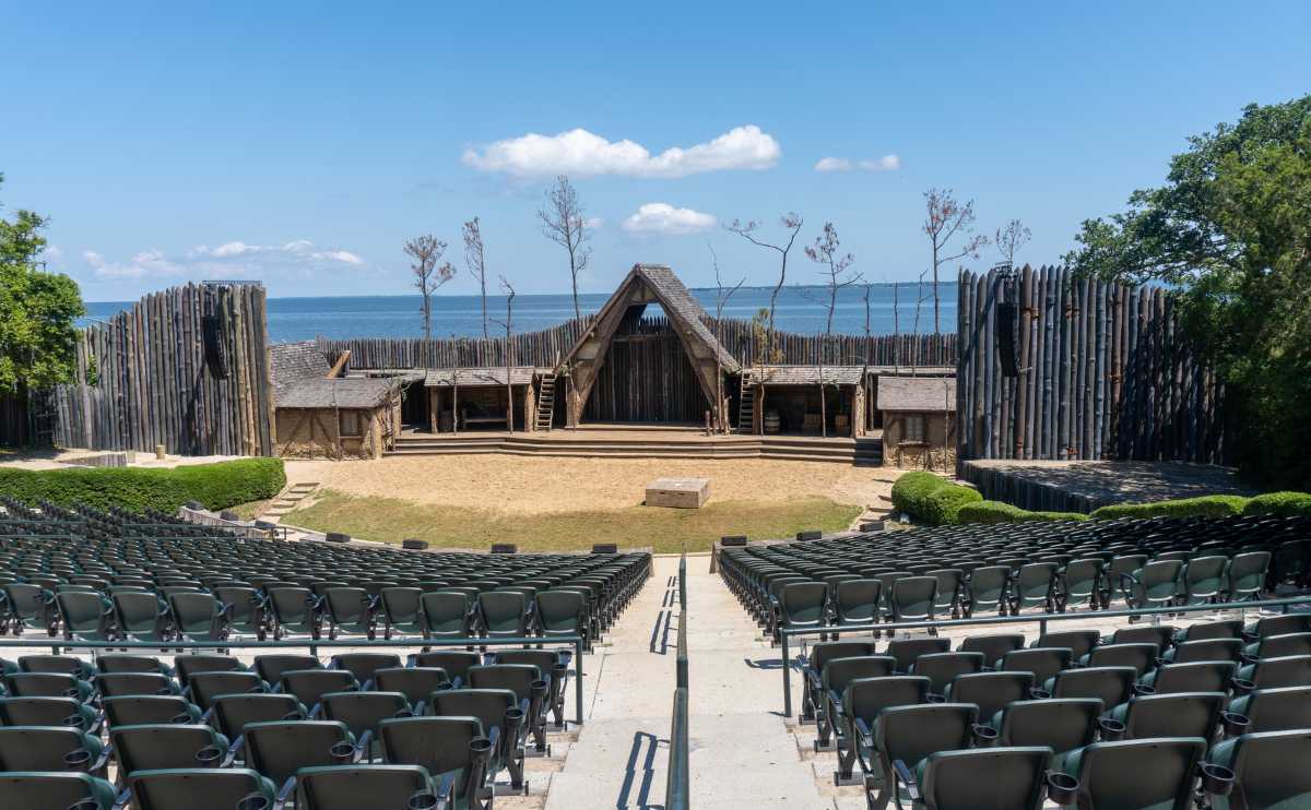
<path fill-rule="evenodd" d="M 726 317 L 749 320 L 760 308 L 770 305 L 770 288 L 738 290 L 724 307 Z M 944 283 L 941 294 L 941 325 L 956 329 L 956 284 Z M 714 313 L 716 290 L 692 290 L 692 295 Z M 928 287 L 919 311 L 919 333 L 933 330 L 933 301 Z M 578 296 L 581 309 L 597 312 L 610 294 Z M 876 284 L 869 291 L 869 329 L 873 334 L 893 334 L 894 325 L 902 333 L 915 329 L 914 283 L 903 283 L 897 291 L 893 307 L 891 284 Z M 87 318 L 104 320 L 130 307 L 127 301 L 93 301 L 87 304 Z M 273 298 L 269 299 L 269 339 L 273 342 L 307 341 L 323 336 L 328 338 L 353 337 L 422 337 L 423 316 L 418 295 L 353 295 L 334 298 Z M 652 315 L 658 308 L 649 309 Z M 821 334 L 829 317 L 827 291 L 823 287 L 784 287 L 779 292 L 776 308 L 779 329 L 804 334 Z M 555 326 L 573 317 L 570 295 L 517 295 L 514 299 L 514 332 L 535 332 Z M 488 318 L 505 321 L 505 298 L 488 296 Z M 838 296 L 834 311 L 834 332 L 865 333 L 864 288 L 847 287 Z M 493 336 L 503 334 L 505 326 L 489 322 Z M 439 295 L 433 298 L 433 337 L 479 337 L 482 334 L 482 309 L 475 295 Z"/>

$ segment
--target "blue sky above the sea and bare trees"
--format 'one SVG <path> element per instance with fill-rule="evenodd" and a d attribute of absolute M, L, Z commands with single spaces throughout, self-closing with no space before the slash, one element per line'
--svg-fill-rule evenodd
<path fill-rule="evenodd" d="M 637 261 L 712 283 L 707 240 L 725 275 L 770 283 L 775 258 L 721 225 L 770 236 L 789 210 L 808 241 L 834 222 L 867 278 L 914 279 L 929 186 L 973 199 L 982 233 L 1023 219 L 1020 258 L 1050 262 L 1188 135 L 1311 87 L 1306 3 L 37 3 L 0 20 L 0 202 L 51 218 L 49 265 L 88 300 L 216 275 L 406 294 L 401 244 L 427 232 L 467 294 L 473 215 L 492 274 L 564 291 L 535 214 L 561 169 L 599 220 L 587 291 Z M 800 249 L 791 279 L 819 279 Z"/>

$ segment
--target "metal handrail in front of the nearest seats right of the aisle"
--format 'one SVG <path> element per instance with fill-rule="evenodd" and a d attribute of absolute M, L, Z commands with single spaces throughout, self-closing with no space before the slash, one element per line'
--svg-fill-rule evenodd
<path fill-rule="evenodd" d="M 1074 621 L 1086 619 L 1121 619 L 1125 616 L 1159 616 L 1162 613 L 1202 613 L 1211 611 L 1239 611 L 1239 609 L 1252 609 L 1252 608 L 1268 608 L 1277 607 L 1282 608 L 1282 612 L 1287 612 L 1289 607 L 1294 604 L 1307 604 L 1311 603 L 1311 595 L 1294 596 L 1290 599 L 1259 599 L 1251 602 L 1222 602 L 1217 604 L 1183 604 L 1183 606 L 1168 606 L 1168 607 L 1155 607 L 1155 608 L 1121 608 L 1117 611 L 1086 611 L 1082 613 L 1032 613 L 1028 616 L 985 616 L 981 619 L 939 619 L 939 620 L 919 620 L 919 621 L 894 621 L 888 624 L 855 624 L 846 627 L 825 625 L 817 628 L 780 628 L 779 640 L 783 653 L 783 716 L 792 717 L 792 653 L 788 649 L 788 640 L 793 637 L 804 636 L 832 636 L 836 638 L 840 633 L 873 633 L 876 630 L 888 630 L 895 633 L 897 630 L 914 630 L 914 629 L 928 629 L 935 630 L 950 630 L 962 627 L 991 627 L 991 625 L 1006 625 L 1006 624 L 1034 624 L 1040 627 L 1040 633 L 1047 632 L 1049 621 Z"/>

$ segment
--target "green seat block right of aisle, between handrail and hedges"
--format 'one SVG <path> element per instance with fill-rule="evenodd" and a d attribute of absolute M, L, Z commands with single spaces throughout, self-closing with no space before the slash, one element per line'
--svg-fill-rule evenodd
<path fill-rule="evenodd" d="M 781 628 L 1025 609 L 1165 607 L 1304 588 L 1311 520 L 1106 520 L 916 528 L 724 548 L 720 570 L 777 640 Z"/>

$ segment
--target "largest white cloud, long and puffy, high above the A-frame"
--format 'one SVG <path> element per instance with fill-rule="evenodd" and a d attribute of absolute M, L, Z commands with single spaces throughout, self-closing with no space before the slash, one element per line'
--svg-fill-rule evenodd
<path fill-rule="evenodd" d="M 606 140 L 577 128 L 558 135 L 528 132 L 488 144 L 482 151 L 465 149 L 461 160 L 482 172 L 515 177 L 570 174 L 593 177 L 687 177 L 729 169 L 770 169 L 783 149 L 755 125 L 734 127 L 694 147 L 670 147 L 659 155 L 632 140 Z"/>

